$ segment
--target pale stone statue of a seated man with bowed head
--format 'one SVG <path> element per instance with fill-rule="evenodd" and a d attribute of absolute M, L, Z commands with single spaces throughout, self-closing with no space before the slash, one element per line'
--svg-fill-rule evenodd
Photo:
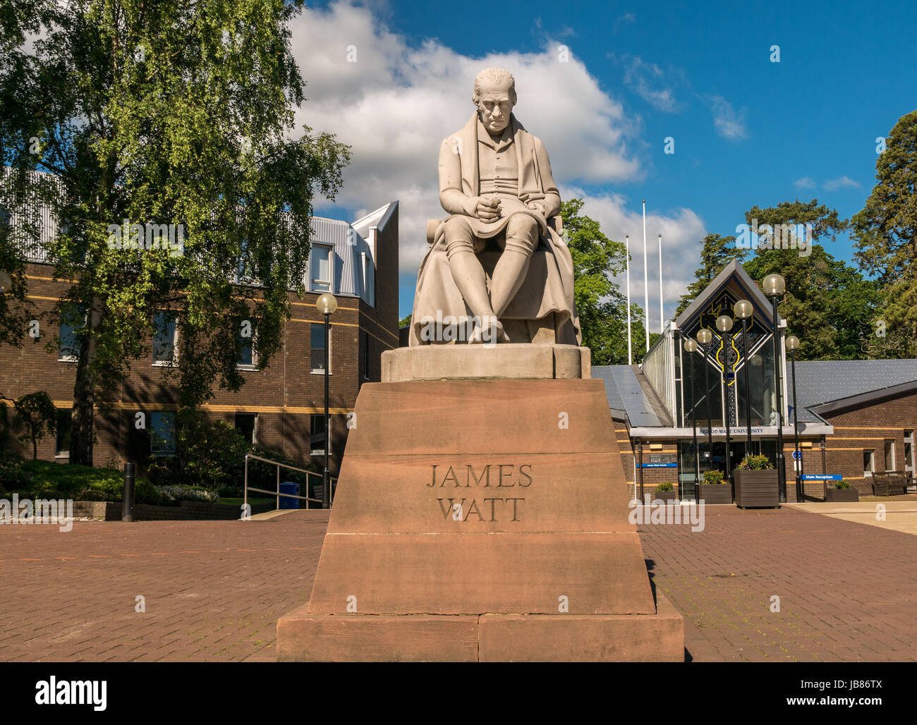
<path fill-rule="evenodd" d="M 478 110 L 439 148 L 439 200 L 449 215 L 427 223 L 410 345 L 579 345 L 547 151 L 512 113 L 509 71 L 481 71 L 472 100 Z"/>

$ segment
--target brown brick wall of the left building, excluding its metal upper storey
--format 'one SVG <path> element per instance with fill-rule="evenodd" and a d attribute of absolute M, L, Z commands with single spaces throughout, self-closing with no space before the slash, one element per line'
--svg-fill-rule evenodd
<path fill-rule="evenodd" d="M 50 312 L 70 284 L 51 279 L 47 265 L 28 265 L 29 298 L 38 313 Z M 202 406 L 215 418 L 235 423 L 237 412 L 258 414 L 258 443 L 282 450 L 307 464 L 310 460 L 311 416 L 324 413 L 324 376 L 311 364 L 311 324 L 323 324 L 315 308 L 318 294 L 303 298 L 291 294 L 291 319 L 283 325 L 282 347 L 262 370 L 243 372 L 245 384 L 238 392 L 215 388 L 215 397 Z M 333 474 L 347 442 L 347 414 L 354 408 L 359 387 L 381 379 L 381 353 L 398 346 L 398 225 L 397 215 L 381 231 L 377 247 L 376 304 L 338 296 L 331 316 L 331 463 Z M 56 321 L 40 322 L 37 340 L 23 331 L 22 348 L 0 345 L 0 393 L 7 398 L 46 390 L 62 410 L 72 407 L 76 364 L 58 359 L 56 347 L 45 346 L 59 332 Z M 367 344 L 368 343 L 368 344 Z M 149 456 L 149 434 L 138 434 L 135 414 L 169 411 L 176 407 L 176 388 L 165 368 L 152 364 L 151 354 L 133 361 L 127 378 L 118 385 L 108 410 L 96 408 L 94 463 L 120 467 L 127 460 L 142 465 Z M 24 455 L 30 446 L 13 443 Z M 39 444 L 39 457 L 55 458 L 52 437 Z M 65 459 L 64 459 L 65 460 Z M 322 456 L 312 458 L 321 465 Z"/>

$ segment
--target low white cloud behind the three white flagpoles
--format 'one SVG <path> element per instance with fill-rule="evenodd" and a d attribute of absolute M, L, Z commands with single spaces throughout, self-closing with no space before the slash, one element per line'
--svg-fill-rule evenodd
<path fill-rule="evenodd" d="M 643 211 L 634 204 L 628 208 L 627 200 L 619 194 L 590 195 L 582 189 L 570 186 L 560 190 L 564 199 L 584 199 L 581 214 L 591 216 L 602 226 L 605 236 L 616 242 L 624 242 L 630 235 L 630 283 L 631 302 L 644 306 L 643 262 Z M 659 332 L 659 238 L 662 235 L 662 298 L 665 319 L 669 320 L 678 306 L 679 297 L 694 279 L 694 270 L 699 264 L 701 240 L 706 227 L 701 217 L 691 209 L 674 209 L 661 214 L 650 209 L 646 211 L 646 279 L 649 296 L 649 329 Z M 626 291 L 624 275 L 614 280 Z"/>

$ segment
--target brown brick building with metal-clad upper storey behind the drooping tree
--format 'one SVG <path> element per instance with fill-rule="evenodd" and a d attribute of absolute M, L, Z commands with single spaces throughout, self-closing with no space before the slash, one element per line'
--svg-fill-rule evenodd
<path fill-rule="evenodd" d="M 52 279 L 42 242 L 56 234 L 49 214 L 43 215 L 41 238 L 28 248 L 28 296 L 37 312 L 49 311 L 69 286 Z M 6 216 L 15 225 L 16 217 Z M 282 346 L 264 369 L 251 350 L 243 350 L 239 368 L 245 384 L 237 392 L 215 390 L 202 408 L 234 425 L 252 443 L 271 446 L 285 456 L 320 465 L 324 456 L 324 316 L 315 301 L 330 291 L 337 297 L 331 315 L 329 408 L 331 468 L 334 474 L 347 440 L 347 413 L 353 410 L 360 386 L 378 381 L 381 353 L 398 346 L 398 203 L 381 206 L 352 224 L 315 217 L 312 223 L 309 279 L 304 297 L 289 295 L 291 319 L 283 324 Z M 176 326 L 161 321 L 161 333 L 151 342 L 146 359 L 131 364 L 118 388 L 110 412 L 96 409 L 96 465 L 141 466 L 152 453 L 168 454 L 174 445 L 176 410 L 174 386 L 164 368 L 178 354 Z M 60 333 L 57 354 L 45 345 Z M 21 348 L 0 346 L 0 393 L 15 399 L 46 390 L 59 412 L 55 439 L 39 445 L 39 457 L 67 461 L 73 401 L 75 357 L 66 318 L 60 328 L 41 329 L 38 339 L 23 331 Z M 143 413 L 145 428 L 135 425 Z"/>

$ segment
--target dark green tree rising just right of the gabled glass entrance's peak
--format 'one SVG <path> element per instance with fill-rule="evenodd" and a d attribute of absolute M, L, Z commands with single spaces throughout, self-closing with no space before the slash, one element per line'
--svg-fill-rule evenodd
<path fill-rule="evenodd" d="M 825 237 L 834 241 L 847 228 L 847 220 L 836 210 L 819 205 L 817 199 L 782 202 L 763 209 L 754 206 L 746 212 L 746 222 L 754 229 L 756 220 L 758 228 L 768 225 L 772 230 L 780 225 L 797 229 L 798 225 L 809 225 L 808 240 L 797 236 L 787 239 L 796 247 L 805 242 L 804 248 L 776 248 L 775 241 L 775 248 L 759 247 L 744 265 L 758 284 L 775 272 L 786 280 L 778 311 L 787 321 L 788 333 L 801 340 L 799 359 L 863 357 L 878 302 L 876 285 L 816 243 Z M 774 238 L 779 238 L 776 232 Z"/>

